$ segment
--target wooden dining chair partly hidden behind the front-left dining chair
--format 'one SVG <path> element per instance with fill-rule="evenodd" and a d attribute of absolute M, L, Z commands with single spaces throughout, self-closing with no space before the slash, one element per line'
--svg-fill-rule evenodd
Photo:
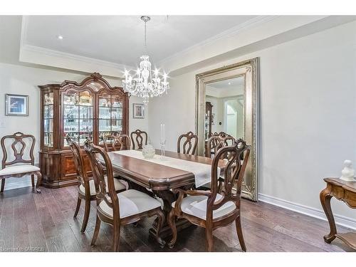
<path fill-rule="evenodd" d="M 75 169 L 77 172 L 78 178 L 78 201 L 77 206 L 75 207 L 75 212 L 73 218 L 76 219 L 78 215 L 78 211 L 80 209 L 80 204 L 82 199 L 85 201 L 85 209 L 84 209 L 84 217 L 82 228 L 80 229 L 80 233 L 84 233 L 89 219 L 90 214 L 90 201 L 95 200 L 95 184 L 93 179 L 89 179 L 87 172 L 84 169 L 84 159 L 82 151 L 80 150 L 79 145 L 67 135 L 66 140 L 70 147 L 70 150 L 73 153 L 73 160 L 75 164 Z M 105 179 L 107 179 L 105 177 Z M 125 191 L 125 184 L 122 184 L 118 179 L 114 179 L 114 188 L 116 192 Z"/>

